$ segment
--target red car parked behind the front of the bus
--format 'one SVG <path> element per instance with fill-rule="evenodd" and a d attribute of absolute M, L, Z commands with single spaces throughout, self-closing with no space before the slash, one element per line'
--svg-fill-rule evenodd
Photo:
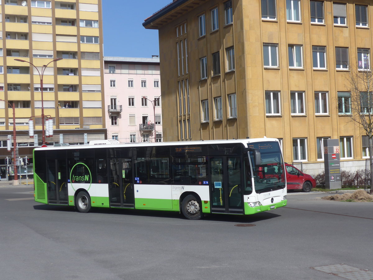
<path fill-rule="evenodd" d="M 303 190 L 309 192 L 312 188 L 316 188 L 316 180 L 312 175 L 308 175 L 300 171 L 298 168 L 287 164 L 286 168 L 286 183 L 288 190 Z"/>

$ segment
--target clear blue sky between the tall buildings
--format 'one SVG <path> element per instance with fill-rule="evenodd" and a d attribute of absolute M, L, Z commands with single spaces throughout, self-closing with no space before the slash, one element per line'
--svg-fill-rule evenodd
<path fill-rule="evenodd" d="M 158 30 L 145 29 L 144 19 L 172 0 L 102 0 L 104 56 L 159 55 Z"/>

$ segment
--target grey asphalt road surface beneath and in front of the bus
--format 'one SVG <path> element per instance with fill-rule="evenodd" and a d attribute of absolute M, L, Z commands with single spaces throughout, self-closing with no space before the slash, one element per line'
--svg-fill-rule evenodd
<path fill-rule="evenodd" d="M 342 263 L 373 271 L 372 203 L 291 193 L 273 212 L 190 221 L 174 212 L 82 214 L 37 203 L 32 190 L 0 187 L 1 279 L 338 280 L 311 267 Z"/>

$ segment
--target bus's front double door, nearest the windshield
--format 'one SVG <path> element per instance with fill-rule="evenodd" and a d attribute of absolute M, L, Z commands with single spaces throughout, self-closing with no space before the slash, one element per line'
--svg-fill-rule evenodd
<path fill-rule="evenodd" d="M 241 157 L 210 157 L 211 212 L 243 214 Z"/>

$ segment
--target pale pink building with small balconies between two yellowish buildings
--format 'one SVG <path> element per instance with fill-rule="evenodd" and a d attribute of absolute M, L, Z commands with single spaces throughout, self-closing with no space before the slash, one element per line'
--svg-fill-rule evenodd
<path fill-rule="evenodd" d="M 107 138 L 161 142 L 159 58 L 104 56 Z"/>

